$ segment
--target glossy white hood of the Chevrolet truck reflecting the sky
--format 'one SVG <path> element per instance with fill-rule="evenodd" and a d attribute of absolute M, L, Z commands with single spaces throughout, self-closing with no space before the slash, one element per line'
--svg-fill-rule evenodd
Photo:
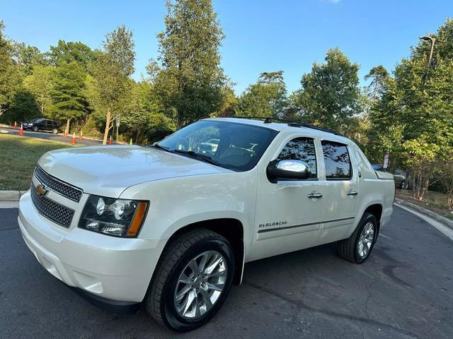
<path fill-rule="evenodd" d="M 129 186 L 154 180 L 231 172 L 156 148 L 94 146 L 52 150 L 38 164 L 84 193 L 117 198 Z"/>

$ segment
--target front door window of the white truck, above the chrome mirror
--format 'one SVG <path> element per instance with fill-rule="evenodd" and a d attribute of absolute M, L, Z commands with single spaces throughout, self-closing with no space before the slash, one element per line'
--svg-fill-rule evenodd
<path fill-rule="evenodd" d="M 311 138 L 294 138 L 282 149 L 277 160 L 300 160 L 309 165 L 311 175 L 309 179 L 316 179 L 316 150 Z"/>

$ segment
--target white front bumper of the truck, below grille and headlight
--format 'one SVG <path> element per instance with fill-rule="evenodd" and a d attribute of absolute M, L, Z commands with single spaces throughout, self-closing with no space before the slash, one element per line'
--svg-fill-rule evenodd
<path fill-rule="evenodd" d="M 49 273 L 71 287 L 118 302 L 142 302 L 166 243 L 66 229 L 38 213 L 30 191 L 21 197 L 18 224 L 25 244 Z"/>

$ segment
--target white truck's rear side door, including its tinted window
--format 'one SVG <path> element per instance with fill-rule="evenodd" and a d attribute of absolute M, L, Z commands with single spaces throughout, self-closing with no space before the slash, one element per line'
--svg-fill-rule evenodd
<path fill-rule="evenodd" d="M 322 140 L 325 186 L 318 244 L 344 239 L 354 225 L 360 198 L 358 177 L 348 145 Z"/>

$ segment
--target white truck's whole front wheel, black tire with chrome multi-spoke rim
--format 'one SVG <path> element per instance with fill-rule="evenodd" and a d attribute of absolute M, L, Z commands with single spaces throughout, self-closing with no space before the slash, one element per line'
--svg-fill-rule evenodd
<path fill-rule="evenodd" d="M 219 311 L 233 275 L 229 242 L 210 230 L 190 231 L 162 254 L 145 297 L 147 311 L 174 331 L 191 331 Z"/>

